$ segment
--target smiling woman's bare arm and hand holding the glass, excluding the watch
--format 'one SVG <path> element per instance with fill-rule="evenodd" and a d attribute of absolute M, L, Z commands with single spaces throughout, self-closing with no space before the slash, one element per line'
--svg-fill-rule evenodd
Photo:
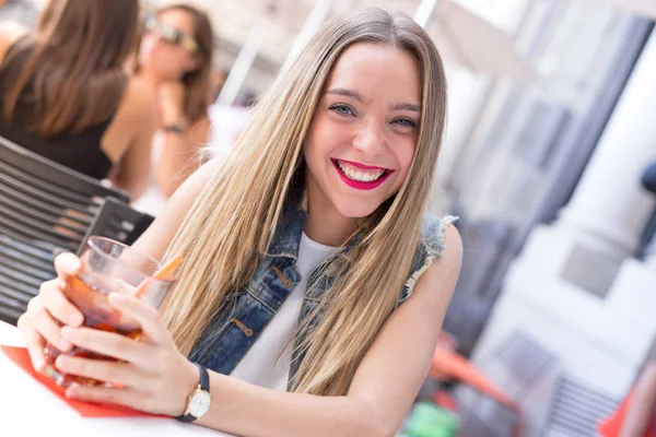
<path fill-rule="evenodd" d="M 157 238 L 155 232 L 148 238 Z M 347 395 L 278 392 L 211 373 L 212 406 L 197 422 L 244 437 L 394 436 L 427 375 L 460 260 L 460 238 L 449 227 L 444 258 L 421 276 L 412 297 L 385 323 Z M 109 302 L 141 326 L 145 340 L 66 327 L 61 335 L 67 342 L 118 363 L 62 355 L 56 365 L 69 374 L 126 388 L 73 386 L 67 395 L 150 413 L 183 414 L 186 397 L 198 385 L 198 370 L 179 353 L 155 309 L 124 294 L 113 293 Z"/>

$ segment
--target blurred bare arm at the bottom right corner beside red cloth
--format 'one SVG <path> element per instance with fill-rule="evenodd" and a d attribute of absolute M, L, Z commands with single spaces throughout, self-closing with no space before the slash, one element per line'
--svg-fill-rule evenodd
<path fill-rule="evenodd" d="M 642 373 L 626 410 L 620 437 L 642 437 L 656 414 L 656 364 Z"/>

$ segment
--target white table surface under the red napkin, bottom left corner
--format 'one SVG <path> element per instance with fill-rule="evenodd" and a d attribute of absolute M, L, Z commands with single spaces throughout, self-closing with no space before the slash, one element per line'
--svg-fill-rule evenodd
<path fill-rule="evenodd" d="M 19 330 L 0 321 L 0 344 L 22 346 Z M 61 399 L 35 381 L 0 352 L 0 434 L 66 437 L 230 437 L 229 434 L 150 417 L 80 416 Z"/>

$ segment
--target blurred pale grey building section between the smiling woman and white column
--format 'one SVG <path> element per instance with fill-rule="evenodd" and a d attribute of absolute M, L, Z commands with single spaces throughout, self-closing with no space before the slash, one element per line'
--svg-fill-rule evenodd
<path fill-rule="evenodd" d="M 475 114 L 449 111 L 435 193 L 438 212 L 462 220 L 465 271 L 446 327 L 466 353 L 530 229 L 574 191 L 652 28 L 599 1 L 525 3 L 516 38 L 538 79 L 458 72 L 449 88 L 452 102 L 468 102 L 460 111 Z"/>

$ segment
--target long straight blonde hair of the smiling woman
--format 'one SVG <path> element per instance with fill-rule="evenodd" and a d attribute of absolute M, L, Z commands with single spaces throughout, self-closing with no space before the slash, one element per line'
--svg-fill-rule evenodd
<path fill-rule="evenodd" d="M 397 305 L 431 192 L 446 84 L 440 55 L 419 25 L 405 14 L 368 9 L 326 24 L 281 72 L 176 235 L 168 253 L 184 253 L 185 263 L 164 317 L 184 354 L 226 310 L 266 253 L 290 188 L 304 173 L 303 141 L 330 71 L 344 49 L 358 43 L 390 45 L 415 57 L 422 83 L 418 145 L 399 192 L 362 221 L 352 250 L 330 260 L 325 274 L 336 280 L 320 298 L 314 315 L 320 312 L 318 322 L 300 327 L 305 340 L 297 352 L 304 358 L 293 390 L 345 394 Z"/>

